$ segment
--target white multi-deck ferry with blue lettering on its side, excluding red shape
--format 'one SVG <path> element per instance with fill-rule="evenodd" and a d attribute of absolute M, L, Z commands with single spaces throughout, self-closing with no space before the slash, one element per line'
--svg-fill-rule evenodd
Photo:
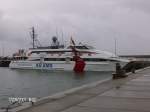
<path fill-rule="evenodd" d="M 57 39 L 56 39 L 57 40 Z M 48 47 L 37 47 L 22 53 L 21 60 L 12 60 L 9 67 L 17 69 L 42 69 L 72 71 L 76 62 L 72 45 L 60 46 L 58 42 Z M 114 71 L 116 62 L 126 64 L 128 60 L 121 59 L 113 53 L 96 50 L 94 47 L 78 44 L 73 45 L 77 55 L 85 62 L 84 71 Z"/>

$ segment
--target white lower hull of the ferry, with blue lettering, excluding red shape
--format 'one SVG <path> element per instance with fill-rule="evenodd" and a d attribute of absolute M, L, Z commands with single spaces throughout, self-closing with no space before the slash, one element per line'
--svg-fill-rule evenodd
<path fill-rule="evenodd" d="M 40 70 L 62 70 L 73 71 L 75 62 L 59 61 L 12 61 L 9 65 L 14 69 L 40 69 Z M 85 71 L 115 71 L 115 62 L 86 62 Z"/>

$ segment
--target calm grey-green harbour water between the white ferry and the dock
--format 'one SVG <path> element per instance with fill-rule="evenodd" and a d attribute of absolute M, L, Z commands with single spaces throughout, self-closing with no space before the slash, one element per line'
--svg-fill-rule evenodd
<path fill-rule="evenodd" d="M 9 98 L 41 98 L 84 84 L 110 78 L 111 72 L 19 70 L 0 68 L 0 107 L 7 106 Z"/>

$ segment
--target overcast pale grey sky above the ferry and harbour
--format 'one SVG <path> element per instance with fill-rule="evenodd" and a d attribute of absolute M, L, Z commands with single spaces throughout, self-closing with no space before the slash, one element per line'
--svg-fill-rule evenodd
<path fill-rule="evenodd" d="M 32 26 L 42 45 L 57 32 L 60 41 L 114 52 L 116 39 L 118 54 L 150 54 L 150 0 L 0 0 L 0 55 L 31 47 Z"/>

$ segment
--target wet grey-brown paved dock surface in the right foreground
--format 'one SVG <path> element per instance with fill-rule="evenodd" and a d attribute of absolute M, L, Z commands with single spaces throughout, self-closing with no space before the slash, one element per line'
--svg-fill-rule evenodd
<path fill-rule="evenodd" d="M 150 68 L 19 112 L 150 112 Z"/>

